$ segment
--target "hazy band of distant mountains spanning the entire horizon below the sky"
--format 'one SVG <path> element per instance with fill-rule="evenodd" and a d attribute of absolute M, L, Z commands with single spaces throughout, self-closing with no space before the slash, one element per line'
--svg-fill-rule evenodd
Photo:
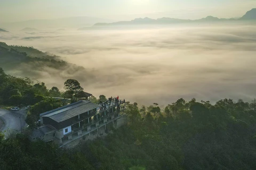
<path fill-rule="evenodd" d="M 174 18 L 158 18 L 150 19 L 138 18 L 131 21 L 118 21 L 113 22 L 109 19 L 93 18 L 87 16 L 77 16 L 70 18 L 61 18 L 61 19 L 52 19 L 52 20 L 28 20 L 21 22 L 10 22 L 10 23 L 1 23 L 0 26 L 13 30 L 20 31 L 38 31 L 45 29 L 54 29 L 58 31 L 63 31 L 68 28 L 75 28 L 78 30 L 90 30 L 97 29 L 100 27 L 106 26 L 118 26 L 118 25 L 164 25 L 164 24 L 174 24 L 174 23 L 207 23 L 207 22 L 231 22 L 231 21 L 246 21 L 246 20 L 255 20 L 256 21 L 256 8 L 246 12 L 241 18 L 217 18 L 214 16 L 207 16 L 206 18 L 198 20 L 185 20 L 185 19 L 174 19 Z M 93 25 L 93 27 L 91 27 Z M 0 29 L 1 32 L 5 32 L 4 29 Z"/>

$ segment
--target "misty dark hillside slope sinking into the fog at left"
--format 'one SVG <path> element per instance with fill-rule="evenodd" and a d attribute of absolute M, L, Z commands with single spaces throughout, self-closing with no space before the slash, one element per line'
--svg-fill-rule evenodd
<path fill-rule="evenodd" d="M 55 77 L 81 76 L 84 67 L 62 61 L 60 56 L 44 53 L 33 47 L 9 46 L 0 42 L 0 67 L 5 72 L 29 76 L 37 80 L 42 74 Z"/>

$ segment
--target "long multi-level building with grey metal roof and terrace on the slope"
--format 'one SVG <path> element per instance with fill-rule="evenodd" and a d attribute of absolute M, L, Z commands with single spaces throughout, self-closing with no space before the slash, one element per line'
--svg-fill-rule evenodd
<path fill-rule="evenodd" d="M 53 141 L 66 146 L 77 139 L 88 138 L 92 134 L 104 133 L 107 126 L 113 126 L 124 101 L 116 99 L 100 105 L 89 100 L 80 100 L 52 111 L 40 114 L 41 126 L 33 131 L 30 139 Z"/>

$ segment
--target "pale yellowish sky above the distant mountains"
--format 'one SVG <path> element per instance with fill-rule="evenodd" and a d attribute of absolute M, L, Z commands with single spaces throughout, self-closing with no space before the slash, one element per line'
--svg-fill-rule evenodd
<path fill-rule="evenodd" d="M 134 18 L 232 18 L 256 7 L 255 0 L 0 0 L 0 23 L 71 16 Z"/>

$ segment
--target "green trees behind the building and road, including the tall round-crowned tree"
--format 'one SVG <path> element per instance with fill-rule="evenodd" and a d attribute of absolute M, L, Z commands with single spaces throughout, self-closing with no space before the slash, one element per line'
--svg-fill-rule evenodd
<path fill-rule="evenodd" d="M 80 83 L 77 80 L 68 79 L 63 84 L 65 91 L 60 91 L 57 87 L 47 89 L 44 82 L 37 81 L 35 83 L 29 78 L 17 78 L 8 75 L 0 67 L 0 107 L 32 105 L 26 122 L 30 128 L 34 128 L 40 113 L 66 105 L 67 101 L 75 102 L 78 100 L 74 95 L 83 90 Z M 56 100 L 51 97 L 71 100 Z M 94 98 L 92 97 L 92 99 Z"/>

